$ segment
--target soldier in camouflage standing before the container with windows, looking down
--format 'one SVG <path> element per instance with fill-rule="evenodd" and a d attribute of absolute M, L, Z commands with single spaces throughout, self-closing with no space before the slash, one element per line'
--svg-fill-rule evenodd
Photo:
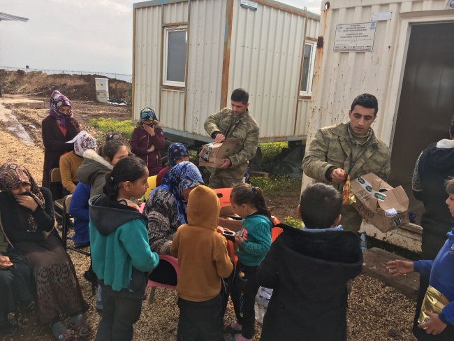
<path fill-rule="evenodd" d="M 226 138 L 241 138 L 231 157 L 224 160 L 219 168 L 207 167 L 210 170 L 210 187 L 227 188 L 240 184 L 250 159 L 256 155 L 258 145 L 258 125 L 251 116 L 249 94 L 244 89 L 235 89 L 230 97 L 232 108 L 224 108 L 210 115 L 203 127 L 214 138 L 215 143 L 221 143 Z"/>

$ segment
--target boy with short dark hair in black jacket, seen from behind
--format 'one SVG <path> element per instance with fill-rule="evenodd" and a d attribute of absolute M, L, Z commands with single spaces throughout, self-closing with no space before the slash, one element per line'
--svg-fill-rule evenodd
<path fill-rule="evenodd" d="M 336 227 L 341 208 L 339 191 L 313 184 L 298 206 L 306 228 L 278 225 L 284 232 L 257 270 L 258 284 L 274 289 L 260 340 L 346 340 L 346 282 L 361 273 L 363 254 L 358 235 Z"/>

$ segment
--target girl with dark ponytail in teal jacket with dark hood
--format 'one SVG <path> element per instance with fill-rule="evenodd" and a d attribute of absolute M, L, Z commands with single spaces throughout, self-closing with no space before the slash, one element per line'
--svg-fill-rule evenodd
<path fill-rule="evenodd" d="M 89 201 L 91 259 L 103 288 L 96 341 L 132 340 L 147 273 L 159 263 L 149 249 L 147 217 L 137 201 L 147 190 L 147 178 L 145 162 L 126 157 L 106 175 L 104 194 Z"/>

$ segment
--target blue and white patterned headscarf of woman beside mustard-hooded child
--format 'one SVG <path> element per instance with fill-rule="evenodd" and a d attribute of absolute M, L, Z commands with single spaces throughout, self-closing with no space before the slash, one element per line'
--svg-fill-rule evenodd
<path fill-rule="evenodd" d="M 184 189 L 196 187 L 199 184 L 205 184 L 205 182 L 203 182 L 202 175 L 197 166 L 191 164 L 189 161 L 184 161 L 170 168 L 162 178 L 161 186 L 153 189 L 152 193 L 158 189 L 170 191 L 177 204 L 178 222 L 180 222 L 180 225 L 183 225 L 188 222 L 186 216 L 187 202 L 183 199 L 183 191 Z"/>

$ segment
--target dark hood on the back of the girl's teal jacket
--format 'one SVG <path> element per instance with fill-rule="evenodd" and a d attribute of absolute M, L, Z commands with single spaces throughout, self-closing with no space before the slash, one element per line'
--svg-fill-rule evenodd
<path fill-rule="evenodd" d="M 112 201 L 104 194 L 90 198 L 88 205 L 90 219 L 103 236 L 109 235 L 119 226 L 134 219 L 143 219 L 145 224 L 147 222 L 147 216 L 135 208 Z"/>

